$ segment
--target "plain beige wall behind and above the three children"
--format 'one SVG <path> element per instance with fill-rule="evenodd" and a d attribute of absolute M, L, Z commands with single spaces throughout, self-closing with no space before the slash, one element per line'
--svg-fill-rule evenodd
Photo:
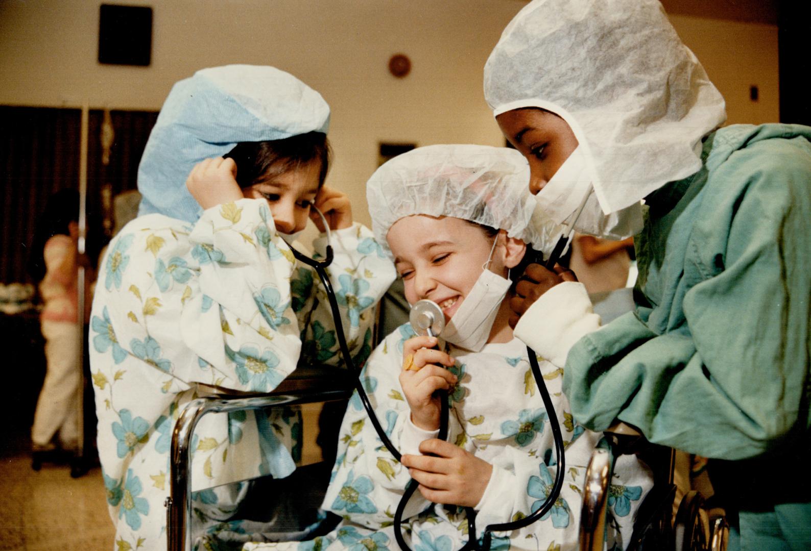
<path fill-rule="evenodd" d="M 152 65 L 97 63 L 97 0 L 0 0 L 0 104 L 159 109 L 204 66 L 288 70 L 333 109 L 329 182 L 368 222 L 380 141 L 502 145 L 482 68 L 522 0 L 152 0 Z M 778 119 L 777 28 L 673 16 L 724 96 L 730 122 Z M 412 72 L 388 73 L 406 53 Z M 749 101 L 757 84 L 761 99 Z"/>

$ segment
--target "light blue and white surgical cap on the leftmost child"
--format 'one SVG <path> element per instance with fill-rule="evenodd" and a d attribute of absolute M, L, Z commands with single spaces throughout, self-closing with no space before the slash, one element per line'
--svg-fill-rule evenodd
<path fill-rule="evenodd" d="M 283 70 L 229 65 L 199 70 L 174 84 L 138 168 L 139 215 L 158 212 L 194 222 L 202 209 L 186 187 L 195 164 L 240 142 L 327 133 L 329 106 Z"/>

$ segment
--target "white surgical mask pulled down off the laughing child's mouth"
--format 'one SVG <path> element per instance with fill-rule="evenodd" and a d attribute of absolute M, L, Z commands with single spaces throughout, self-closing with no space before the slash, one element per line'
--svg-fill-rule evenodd
<path fill-rule="evenodd" d="M 440 333 L 440 337 L 449 343 L 473 352 L 478 352 L 487 344 L 487 337 L 490 336 L 493 322 L 496 321 L 499 306 L 504 301 L 511 283 L 510 280 L 487 269 L 497 241 L 498 237 L 493 241 L 490 256 L 470 293 L 467 293 L 459 310 L 453 314 L 453 318 Z"/>

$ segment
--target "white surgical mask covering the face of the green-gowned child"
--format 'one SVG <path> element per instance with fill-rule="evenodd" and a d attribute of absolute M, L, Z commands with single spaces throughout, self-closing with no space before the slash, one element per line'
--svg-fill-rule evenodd
<path fill-rule="evenodd" d="M 620 211 L 604 214 L 591 182 L 590 160 L 578 146 L 547 185 L 535 194 L 535 200 L 547 216 L 563 224 L 573 216 L 583 197 L 589 194 L 585 207 L 574 223 L 575 231 L 607 239 L 624 239 L 639 233 L 642 229 L 642 205 L 635 203 Z"/>

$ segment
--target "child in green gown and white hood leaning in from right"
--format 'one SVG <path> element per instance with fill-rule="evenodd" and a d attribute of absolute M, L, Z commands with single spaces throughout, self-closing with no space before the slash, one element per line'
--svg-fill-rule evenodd
<path fill-rule="evenodd" d="M 522 340 L 577 342 L 575 419 L 713 458 L 731 549 L 811 549 L 811 128 L 719 129 L 723 98 L 655 0 L 530 2 L 484 93 L 553 219 L 591 193 L 575 229 L 636 234 L 636 312 L 579 342 L 582 288 L 539 265 L 517 288 Z M 547 318 L 560 304 L 571 318 Z"/>

